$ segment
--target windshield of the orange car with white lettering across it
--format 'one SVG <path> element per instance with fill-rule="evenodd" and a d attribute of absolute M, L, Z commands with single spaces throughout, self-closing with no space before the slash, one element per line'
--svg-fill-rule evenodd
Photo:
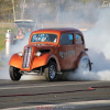
<path fill-rule="evenodd" d="M 31 42 L 57 42 L 56 34 L 34 34 Z"/>

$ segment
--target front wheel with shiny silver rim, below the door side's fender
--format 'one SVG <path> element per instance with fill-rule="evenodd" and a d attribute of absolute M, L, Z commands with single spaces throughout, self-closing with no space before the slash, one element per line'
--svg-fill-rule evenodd
<path fill-rule="evenodd" d="M 47 81 L 54 81 L 56 78 L 56 64 L 54 62 L 48 62 L 47 66 L 44 69 L 45 78 Z"/>

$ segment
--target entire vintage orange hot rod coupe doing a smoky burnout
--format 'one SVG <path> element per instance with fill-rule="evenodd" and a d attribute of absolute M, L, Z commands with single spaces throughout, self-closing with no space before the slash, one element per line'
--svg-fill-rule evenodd
<path fill-rule="evenodd" d="M 23 53 L 10 58 L 10 77 L 20 80 L 24 73 L 36 73 L 53 81 L 57 75 L 76 69 L 80 61 L 87 61 L 85 68 L 90 70 L 91 63 L 86 51 L 84 35 L 77 29 L 36 30 L 31 33 Z"/>

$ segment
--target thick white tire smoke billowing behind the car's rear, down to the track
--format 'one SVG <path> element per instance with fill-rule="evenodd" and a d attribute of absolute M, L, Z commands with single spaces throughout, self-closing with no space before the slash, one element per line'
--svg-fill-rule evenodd
<path fill-rule="evenodd" d="M 91 72 L 77 69 L 69 73 L 70 80 L 110 80 L 110 8 L 99 11 L 96 25 L 84 32 L 88 55 L 94 63 Z"/>

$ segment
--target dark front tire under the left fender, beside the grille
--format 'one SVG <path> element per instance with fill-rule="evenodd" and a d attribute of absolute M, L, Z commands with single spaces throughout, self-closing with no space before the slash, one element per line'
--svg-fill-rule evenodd
<path fill-rule="evenodd" d="M 11 78 L 12 80 L 14 80 L 14 81 L 20 80 L 21 74 L 20 74 L 20 69 L 19 69 L 19 68 L 13 67 L 13 66 L 10 66 L 9 72 L 10 72 L 10 78 Z"/>

